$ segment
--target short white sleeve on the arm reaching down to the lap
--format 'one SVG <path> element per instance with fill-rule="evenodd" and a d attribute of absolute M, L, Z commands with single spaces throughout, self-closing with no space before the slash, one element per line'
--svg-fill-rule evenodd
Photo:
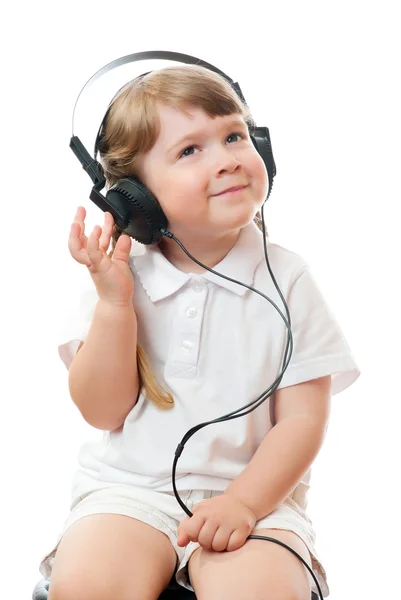
<path fill-rule="evenodd" d="M 360 370 L 308 265 L 291 286 L 287 304 L 293 352 L 278 388 L 325 375 L 331 375 L 333 396 L 348 388 Z"/>

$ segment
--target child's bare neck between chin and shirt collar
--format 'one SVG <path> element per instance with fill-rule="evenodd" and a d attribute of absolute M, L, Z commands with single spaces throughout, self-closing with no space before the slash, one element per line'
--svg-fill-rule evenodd
<path fill-rule="evenodd" d="M 197 238 L 195 235 L 177 235 L 176 237 L 196 260 L 213 269 L 233 248 L 239 233 L 240 229 L 220 236 L 205 237 L 202 235 L 202 237 Z M 176 269 L 184 273 L 205 272 L 205 269 L 191 260 L 174 240 L 163 238 L 159 244 L 159 248 Z"/>

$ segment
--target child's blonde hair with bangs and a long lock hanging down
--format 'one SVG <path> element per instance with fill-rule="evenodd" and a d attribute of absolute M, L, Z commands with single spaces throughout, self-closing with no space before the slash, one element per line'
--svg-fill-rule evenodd
<path fill-rule="evenodd" d="M 173 107 L 197 106 L 210 117 L 241 114 L 250 130 L 254 127 L 248 107 L 217 73 L 194 65 L 152 71 L 125 85 L 109 107 L 98 143 L 107 187 L 123 177 L 136 176 L 137 156 L 148 152 L 159 135 L 159 103 Z M 254 220 L 263 231 L 260 212 Z M 114 226 L 109 256 L 113 255 L 121 233 Z M 149 400 L 159 408 L 171 408 L 172 394 L 156 381 L 150 360 L 140 344 L 137 345 L 137 364 Z"/>

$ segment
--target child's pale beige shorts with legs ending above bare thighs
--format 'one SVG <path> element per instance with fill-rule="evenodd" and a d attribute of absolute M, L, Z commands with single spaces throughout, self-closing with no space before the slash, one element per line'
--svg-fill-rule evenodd
<path fill-rule="evenodd" d="M 189 490 L 180 491 L 179 494 L 183 503 L 192 512 L 192 507 L 195 504 L 207 498 L 218 496 L 222 492 Z M 79 519 L 99 513 L 126 515 L 152 525 L 152 527 L 165 533 L 178 557 L 175 579 L 179 585 L 193 590 L 188 578 L 188 561 L 191 554 L 199 547 L 199 544 L 190 542 L 185 548 L 177 546 L 177 528 L 186 517 L 186 513 L 178 504 L 174 493 L 157 492 L 127 485 L 115 485 L 95 490 L 84 496 L 72 507 L 56 546 L 40 563 L 39 570 L 44 577 L 50 579 L 57 546 L 67 529 Z M 312 570 L 319 582 L 323 596 L 326 598 L 329 595 L 326 573 L 314 549 L 315 533 L 312 522 L 306 513 L 291 498 L 288 498 L 270 515 L 258 521 L 252 533 L 265 528 L 293 531 L 305 542 L 311 555 Z M 314 582 L 312 591 L 317 593 Z"/>

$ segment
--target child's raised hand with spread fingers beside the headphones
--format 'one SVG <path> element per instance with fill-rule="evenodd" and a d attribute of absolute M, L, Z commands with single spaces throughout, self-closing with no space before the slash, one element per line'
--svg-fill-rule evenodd
<path fill-rule="evenodd" d="M 85 235 L 85 216 L 85 208 L 78 207 L 68 239 L 71 256 L 88 267 L 101 300 L 115 305 L 132 303 L 134 281 L 128 264 L 131 238 L 121 235 L 110 257 L 107 252 L 114 226 L 112 215 L 106 212 L 103 229 L 96 225 L 89 237 Z"/>

